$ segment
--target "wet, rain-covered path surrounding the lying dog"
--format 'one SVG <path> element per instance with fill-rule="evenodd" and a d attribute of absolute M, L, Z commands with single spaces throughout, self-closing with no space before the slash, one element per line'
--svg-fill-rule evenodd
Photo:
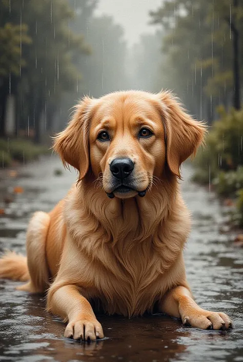
<path fill-rule="evenodd" d="M 21 168 L 17 176 L 0 175 L 0 202 L 13 201 L 0 215 L 0 251 L 25 253 L 31 213 L 49 211 L 75 180 L 75 173 L 55 176 L 60 168 L 52 157 Z M 233 246 L 233 235 L 220 233 L 226 219 L 214 196 L 190 182 L 190 167 L 183 175 L 184 198 L 194 218 L 185 251 L 188 279 L 200 306 L 229 314 L 234 329 L 202 331 L 163 315 L 130 320 L 98 316 L 107 339 L 80 344 L 63 337 L 64 325 L 45 311 L 44 298 L 0 280 L 1 361 L 243 361 L 243 249 Z M 15 186 L 20 193 L 12 199 Z"/>

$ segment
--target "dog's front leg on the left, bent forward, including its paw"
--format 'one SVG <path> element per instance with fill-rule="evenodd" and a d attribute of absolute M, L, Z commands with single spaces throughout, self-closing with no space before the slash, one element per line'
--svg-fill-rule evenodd
<path fill-rule="evenodd" d="M 47 308 L 68 321 L 65 337 L 80 340 L 104 337 L 102 326 L 97 321 L 90 303 L 80 294 L 76 285 L 58 288 L 54 283 L 48 292 Z"/>

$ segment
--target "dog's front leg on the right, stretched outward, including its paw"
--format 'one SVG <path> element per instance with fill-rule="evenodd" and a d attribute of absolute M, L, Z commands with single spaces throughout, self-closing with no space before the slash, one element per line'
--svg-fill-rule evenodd
<path fill-rule="evenodd" d="M 169 290 L 159 303 L 162 312 L 181 318 L 185 325 L 201 329 L 228 329 L 232 322 L 227 314 L 209 312 L 200 308 L 193 300 L 190 291 L 178 286 Z"/>

